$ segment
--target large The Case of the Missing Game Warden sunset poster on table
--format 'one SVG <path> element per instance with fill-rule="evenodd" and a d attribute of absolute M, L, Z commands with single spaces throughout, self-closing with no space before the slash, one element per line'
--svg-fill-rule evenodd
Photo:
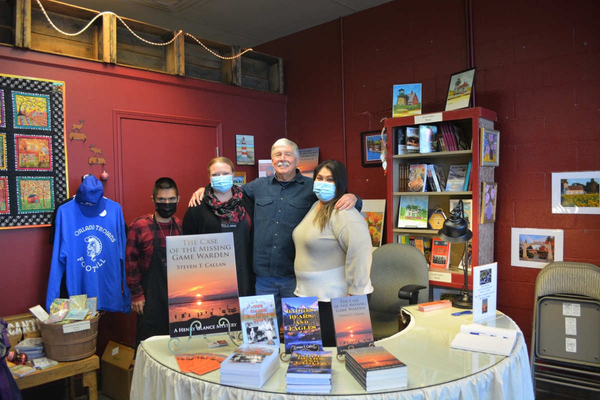
<path fill-rule="evenodd" d="M 233 233 L 166 240 L 170 336 L 189 336 L 192 323 L 191 335 L 239 330 Z"/>

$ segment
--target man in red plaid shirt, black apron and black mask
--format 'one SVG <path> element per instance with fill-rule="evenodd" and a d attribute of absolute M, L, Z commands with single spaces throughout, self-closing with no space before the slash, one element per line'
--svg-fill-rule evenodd
<path fill-rule="evenodd" d="M 131 222 L 125 248 L 131 311 L 137 313 L 136 350 L 151 336 L 169 335 L 166 237 L 181 234 L 181 219 L 173 216 L 179 203 L 173 179 L 155 182 L 152 203 L 154 213 Z"/>

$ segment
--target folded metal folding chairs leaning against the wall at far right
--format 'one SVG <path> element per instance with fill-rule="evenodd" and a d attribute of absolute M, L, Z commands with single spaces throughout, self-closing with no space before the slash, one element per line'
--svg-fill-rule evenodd
<path fill-rule="evenodd" d="M 531 344 L 536 382 L 600 396 L 600 268 L 557 261 L 535 281 Z"/>

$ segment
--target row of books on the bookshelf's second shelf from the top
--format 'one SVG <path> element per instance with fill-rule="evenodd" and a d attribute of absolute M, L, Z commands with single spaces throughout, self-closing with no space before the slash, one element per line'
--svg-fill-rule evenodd
<path fill-rule="evenodd" d="M 434 164 L 399 164 L 398 189 L 401 192 L 460 192 L 472 187 L 469 164 L 450 166 L 448 180 L 442 167 Z"/>

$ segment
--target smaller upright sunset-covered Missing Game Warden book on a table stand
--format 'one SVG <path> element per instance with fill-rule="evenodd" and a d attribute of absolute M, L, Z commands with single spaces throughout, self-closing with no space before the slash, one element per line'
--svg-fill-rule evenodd
<path fill-rule="evenodd" d="M 331 299 L 338 354 L 361 347 L 374 347 L 367 295 Z"/>

